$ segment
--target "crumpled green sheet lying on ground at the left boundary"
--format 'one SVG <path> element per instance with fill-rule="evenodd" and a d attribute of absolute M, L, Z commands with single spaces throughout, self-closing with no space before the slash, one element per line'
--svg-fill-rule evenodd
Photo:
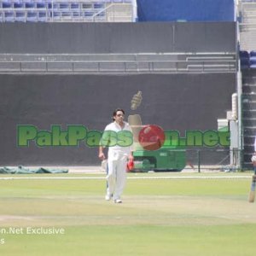
<path fill-rule="evenodd" d="M 31 173 L 67 173 L 67 169 L 50 169 L 50 168 L 27 168 L 24 166 L 17 167 L 0 167 L 0 173 L 4 174 L 31 174 Z"/>

